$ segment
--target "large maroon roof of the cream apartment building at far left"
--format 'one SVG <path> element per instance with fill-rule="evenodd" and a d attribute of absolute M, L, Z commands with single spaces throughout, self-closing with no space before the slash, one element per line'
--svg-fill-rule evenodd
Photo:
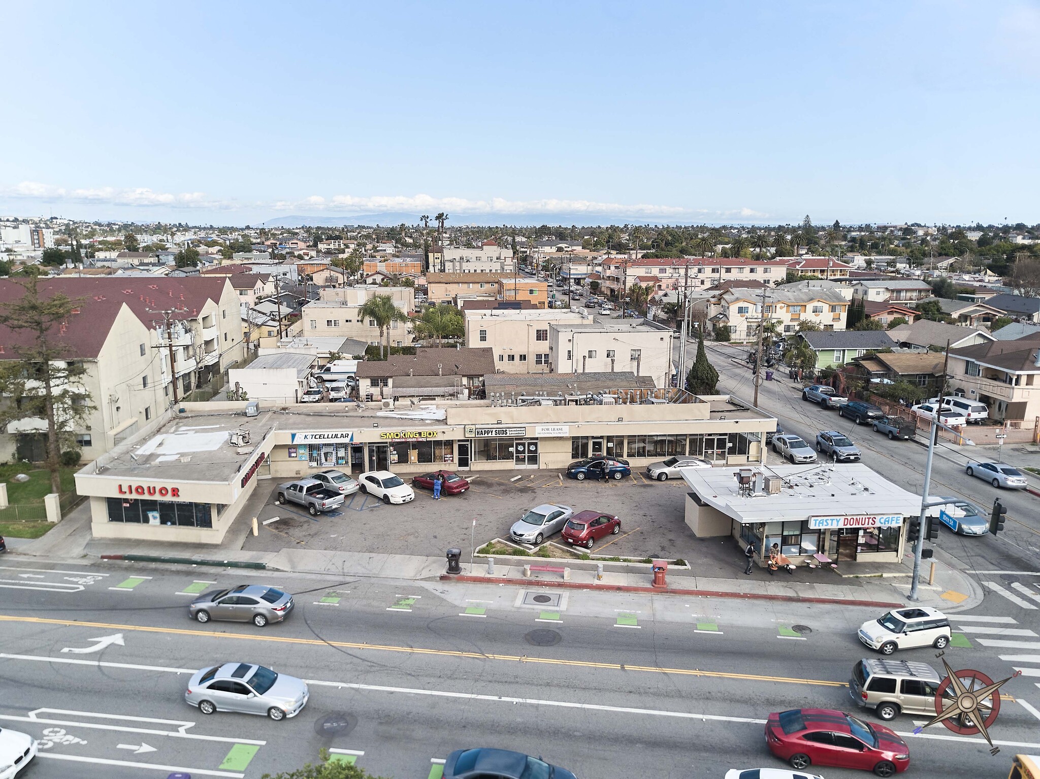
<path fill-rule="evenodd" d="M 154 312 L 176 310 L 175 320 L 188 320 L 199 316 L 207 300 L 218 301 L 228 279 L 225 277 L 144 277 L 114 276 L 41 278 L 38 290 L 43 298 L 63 293 L 79 303 L 78 314 L 70 316 L 67 323 L 55 326 L 53 333 L 67 351 L 66 358 L 97 357 L 108 338 L 115 317 L 127 305 L 148 327 L 161 321 L 162 315 Z M 0 304 L 22 297 L 25 290 L 9 279 L 0 279 Z M 10 359 L 12 347 L 28 344 L 30 334 L 25 330 L 14 331 L 0 327 L 0 358 Z"/>

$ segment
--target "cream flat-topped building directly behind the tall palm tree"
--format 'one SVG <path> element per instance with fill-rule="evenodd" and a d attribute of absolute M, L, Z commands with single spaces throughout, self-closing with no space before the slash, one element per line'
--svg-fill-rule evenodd
<path fill-rule="evenodd" d="M 323 288 L 320 299 L 306 303 L 301 312 L 303 325 L 298 334 L 305 338 L 346 338 L 372 345 L 385 344 L 373 319 L 360 315 L 361 306 L 375 295 L 389 295 L 394 305 L 405 315 L 415 310 L 415 290 L 411 287 L 376 287 L 372 285 Z M 407 322 L 390 323 L 390 345 L 408 346 L 413 341 Z"/>

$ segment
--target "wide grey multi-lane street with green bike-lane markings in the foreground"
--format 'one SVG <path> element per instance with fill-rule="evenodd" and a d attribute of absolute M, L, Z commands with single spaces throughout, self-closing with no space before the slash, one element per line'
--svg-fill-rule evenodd
<path fill-rule="evenodd" d="M 398 779 L 437 777 L 436 760 L 470 746 L 541 754 L 581 777 L 779 768 L 765 716 L 855 710 L 846 682 L 867 654 L 855 630 L 880 611 L 10 556 L 0 565 L 0 725 L 47 745 L 27 779 L 259 777 L 322 747 Z M 260 582 L 295 594 L 286 622 L 189 621 L 185 593 Z M 1040 657 L 1037 611 L 1012 606 L 989 594 L 983 608 L 952 615 L 953 667 L 1003 678 Z M 935 653 L 905 656 L 938 665 Z M 228 661 L 305 678 L 308 705 L 276 723 L 186 704 L 191 672 Z M 1002 776 L 1010 755 L 1040 751 L 1034 682 L 1005 687 L 1014 700 L 992 728 L 997 757 L 978 736 L 942 726 L 914 736 L 922 720 L 899 718 L 910 774 Z"/>

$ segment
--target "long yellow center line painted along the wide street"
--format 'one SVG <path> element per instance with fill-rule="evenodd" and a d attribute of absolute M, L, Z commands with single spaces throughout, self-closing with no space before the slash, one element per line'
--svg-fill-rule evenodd
<path fill-rule="evenodd" d="M 633 531 L 634 532 L 634 531 Z M 158 627 L 154 625 L 126 625 L 115 622 L 80 622 L 69 619 L 49 619 L 46 617 L 15 617 L 0 614 L 0 622 L 29 622 L 43 625 L 64 625 L 67 627 L 90 627 L 105 630 L 137 630 L 138 633 L 158 633 L 173 636 L 196 636 L 210 639 L 238 639 L 240 641 L 265 641 L 277 644 L 296 644 L 302 646 L 332 646 L 342 649 L 368 649 L 382 652 L 404 652 L 406 654 L 428 654 L 441 657 L 463 657 L 466 660 L 497 660 L 508 663 L 532 663 L 537 665 L 567 666 L 570 668 L 596 668 L 610 671 L 643 671 L 646 673 L 665 673 L 678 676 L 704 676 L 716 679 L 740 679 L 748 681 L 783 681 L 789 684 L 814 684 L 816 687 L 847 687 L 847 681 L 830 681 L 828 679 L 801 679 L 797 677 L 759 675 L 751 673 L 727 673 L 723 671 L 702 671 L 699 668 L 660 668 L 657 666 L 630 666 L 620 663 L 593 663 L 581 660 L 556 660 L 553 657 L 531 657 L 518 654 L 486 654 L 484 652 L 467 652 L 458 649 L 428 649 L 414 646 L 395 646 L 393 644 L 364 644 L 357 641 L 322 641 L 320 639 L 296 639 L 288 636 L 257 636 L 248 633 L 215 633 L 213 630 L 194 630 L 184 627 Z"/>

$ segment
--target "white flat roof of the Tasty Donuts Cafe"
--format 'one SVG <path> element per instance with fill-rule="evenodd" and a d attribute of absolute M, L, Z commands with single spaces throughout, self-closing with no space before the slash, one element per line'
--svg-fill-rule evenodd
<path fill-rule="evenodd" d="M 743 468 L 780 477 L 778 494 L 742 491 Z M 700 500 L 742 525 L 808 519 L 813 516 L 920 512 L 920 495 L 900 487 L 862 463 L 755 465 L 683 468 L 680 472 Z"/>

